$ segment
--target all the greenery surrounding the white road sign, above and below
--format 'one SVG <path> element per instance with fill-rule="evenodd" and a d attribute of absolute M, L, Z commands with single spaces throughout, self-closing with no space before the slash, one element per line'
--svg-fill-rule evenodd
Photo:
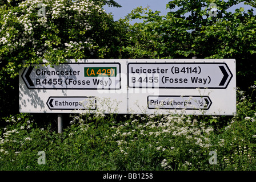
<path fill-rule="evenodd" d="M 170 1 L 170 11 L 138 7 L 114 22 L 109 1 L 0 2 L 1 170 L 255 170 L 255 16 L 242 1 Z M 245 1 L 252 7 L 255 1 Z M 210 3 L 217 16 L 210 16 Z M 38 7 L 39 5 L 39 7 Z M 46 16 L 43 16 L 46 5 Z M 189 14 L 188 16 L 186 16 Z M 129 25 L 131 19 L 143 23 Z M 71 115 L 62 134 L 39 114 L 17 114 L 18 71 L 46 59 L 236 59 L 234 117 Z M 249 85 L 253 85 L 248 89 Z M 44 115 L 45 117 L 45 115 Z M 44 119 L 41 122 L 42 118 Z M 49 122 L 51 121 L 51 122 Z M 46 164 L 39 165 L 38 152 Z M 210 151 L 217 164 L 209 164 Z"/>

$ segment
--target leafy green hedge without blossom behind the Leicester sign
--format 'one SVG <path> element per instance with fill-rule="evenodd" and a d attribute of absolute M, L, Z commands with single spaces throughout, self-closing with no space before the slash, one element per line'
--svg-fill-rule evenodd
<path fill-rule="evenodd" d="M 130 26 L 129 43 L 123 46 L 125 58 L 140 59 L 236 59 L 238 86 L 246 89 L 254 82 L 255 15 L 243 8 L 234 13 L 229 7 L 243 1 L 170 1 L 170 12 L 138 7 L 127 17 L 143 19 Z M 246 1 L 247 2 L 247 1 Z M 254 3 L 248 1 L 252 7 Z M 217 16 L 211 16 L 211 3 Z M 177 11 L 172 11 L 179 7 Z"/>

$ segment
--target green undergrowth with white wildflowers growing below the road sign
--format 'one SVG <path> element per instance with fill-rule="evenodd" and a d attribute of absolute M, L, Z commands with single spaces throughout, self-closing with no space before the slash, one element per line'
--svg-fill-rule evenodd
<path fill-rule="evenodd" d="M 238 90 L 233 117 L 199 115 L 197 124 L 191 115 L 77 114 L 58 134 L 51 119 L 11 115 L 0 129 L 0 170 L 255 170 L 254 90 Z"/>

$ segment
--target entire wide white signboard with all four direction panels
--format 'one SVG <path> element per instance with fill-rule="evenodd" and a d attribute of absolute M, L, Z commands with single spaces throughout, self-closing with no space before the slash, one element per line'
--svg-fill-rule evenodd
<path fill-rule="evenodd" d="M 236 113 L 233 59 L 46 62 L 19 72 L 21 112 Z"/>

